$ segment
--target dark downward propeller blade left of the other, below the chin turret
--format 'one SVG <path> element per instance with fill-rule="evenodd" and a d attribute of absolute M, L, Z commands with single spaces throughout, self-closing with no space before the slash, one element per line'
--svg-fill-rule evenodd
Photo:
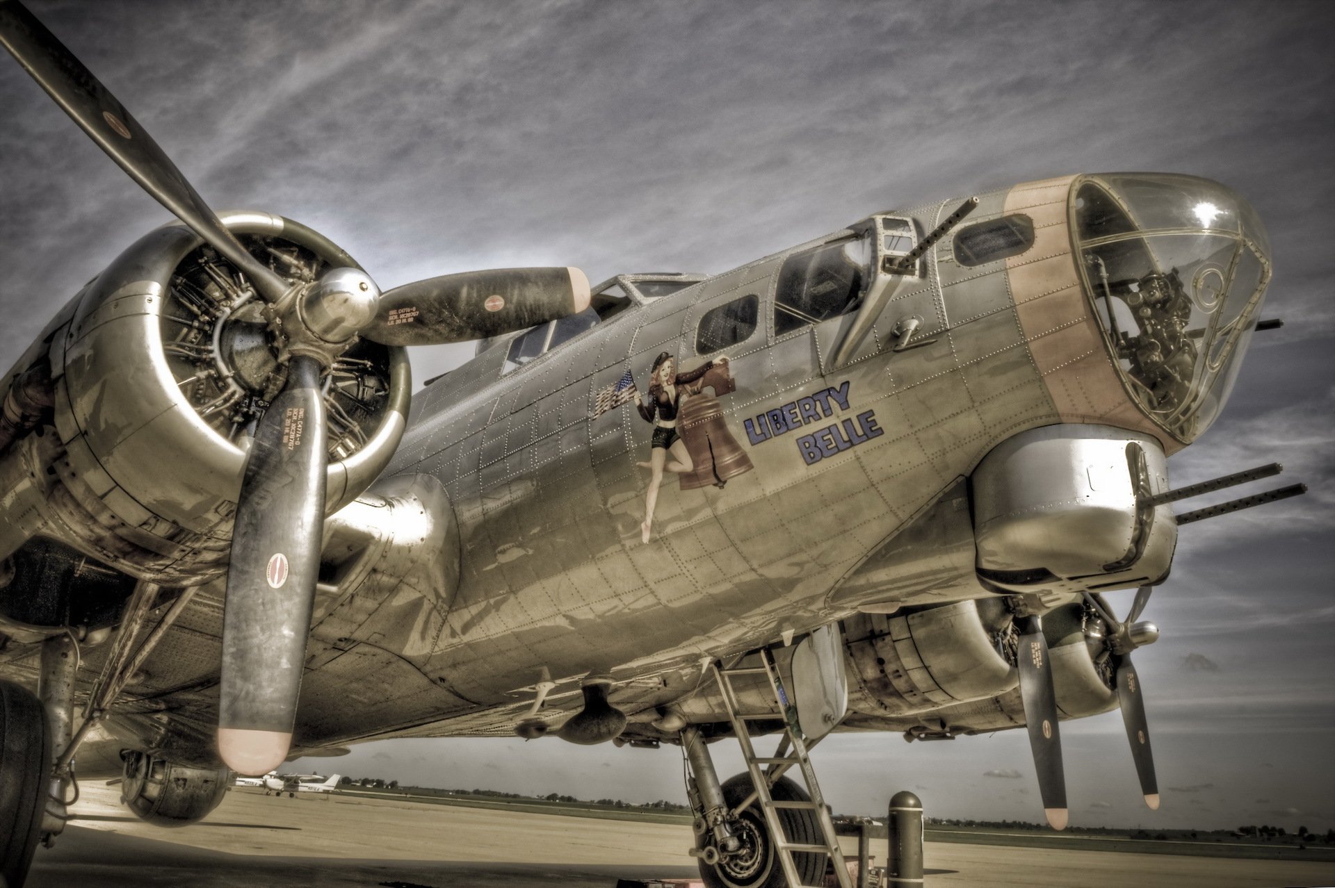
<path fill-rule="evenodd" d="M 1052 659 L 1039 617 L 1019 617 L 1020 699 L 1029 729 L 1029 748 L 1039 775 L 1043 813 L 1053 829 L 1067 828 L 1067 777 L 1061 767 L 1061 735 L 1057 731 L 1057 693 L 1052 687 Z"/>

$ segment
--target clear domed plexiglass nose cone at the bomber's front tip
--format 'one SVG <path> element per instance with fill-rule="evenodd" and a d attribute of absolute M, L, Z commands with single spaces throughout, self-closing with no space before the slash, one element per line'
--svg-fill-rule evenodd
<path fill-rule="evenodd" d="M 1193 176 L 1083 176 L 1071 216 L 1087 292 L 1123 379 L 1184 443 L 1219 415 L 1270 281 L 1252 208 Z"/>

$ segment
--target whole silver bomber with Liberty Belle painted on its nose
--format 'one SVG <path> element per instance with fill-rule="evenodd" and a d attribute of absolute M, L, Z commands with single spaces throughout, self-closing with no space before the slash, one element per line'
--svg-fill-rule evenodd
<path fill-rule="evenodd" d="M 1279 467 L 1169 481 L 1267 325 L 1227 185 L 1059 175 L 721 275 L 382 292 L 299 221 L 211 209 L 15 0 L 0 41 L 176 217 L 0 381 L 11 888 L 76 776 L 180 825 L 392 737 L 680 745 L 714 887 L 849 888 L 832 732 L 1021 728 L 1063 829 L 1061 724 L 1120 708 L 1159 807 L 1132 659 L 1179 528 L 1303 489 L 1183 511 Z M 474 340 L 413 393 L 407 349 Z"/>

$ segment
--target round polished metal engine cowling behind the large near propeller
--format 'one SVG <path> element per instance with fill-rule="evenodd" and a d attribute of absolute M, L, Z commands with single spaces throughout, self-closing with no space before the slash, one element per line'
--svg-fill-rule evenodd
<path fill-rule="evenodd" d="M 355 265 L 291 220 L 251 212 L 223 221 L 290 279 Z M 0 557 L 43 535 L 164 585 L 226 568 L 247 427 L 286 373 L 263 305 L 238 281 L 212 248 L 171 224 L 121 253 L 61 312 L 48 344 L 25 355 L 51 367 L 47 421 L 56 433 L 43 423 L 0 459 L 0 483 L 31 507 L 0 527 Z M 402 348 L 359 341 L 334 365 L 327 513 L 388 464 L 410 388 Z"/>

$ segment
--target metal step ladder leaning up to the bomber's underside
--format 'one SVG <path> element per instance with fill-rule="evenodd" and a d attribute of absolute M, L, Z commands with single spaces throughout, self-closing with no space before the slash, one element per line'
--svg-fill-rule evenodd
<path fill-rule="evenodd" d="M 784 877 L 788 880 L 789 888 L 822 888 L 825 884 L 824 879 L 821 879 L 820 885 L 806 885 L 798 881 L 797 865 L 793 861 L 793 855 L 796 853 L 828 855 L 840 888 L 853 888 L 848 864 L 844 863 L 844 852 L 838 847 L 838 836 L 834 832 L 830 809 L 826 807 L 824 796 L 821 796 L 820 784 L 816 783 L 816 769 L 812 768 L 812 760 L 808 755 L 810 747 L 816 745 L 816 743 L 810 745 L 806 743 L 802 728 L 797 721 L 797 708 L 784 688 L 784 679 L 778 673 L 778 667 L 769 648 L 761 648 L 760 663 L 758 667 L 722 668 L 718 663 L 714 663 L 712 667 L 718 680 L 718 687 L 722 691 L 728 717 L 733 723 L 733 735 L 741 744 L 742 757 L 746 760 L 746 769 L 750 773 L 752 785 L 756 788 L 742 804 L 737 805 L 736 811 L 745 811 L 752 804 L 760 803 L 761 813 L 765 816 L 765 825 L 769 828 L 769 835 L 774 839 L 778 861 L 784 868 Z M 769 683 L 770 693 L 768 699 L 773 701 L 774 708 L 765 712 L 742 712 L 732 680 L 738 676 L 757 675 L 764 675 Z M 756 755 L 756 747 L 752 744 L 750 733 L 746 731 L 746 723 L 776 719 L 784 723 L 784 736 L 778 741 L 778 748 L 774 749 L 774 755 L 772 756 Z M 774 781 L 793 767 L 797 767 L 801 772 L 802 783 L 806 784 L 806 793 L 810 796 L 810 801 L 776 801 L 770 795 Z M 778 817 L 780 809 L 814 811 L 825 844 L 817 845 L 792 841 L 784 832 L 784 825 Z"/>

